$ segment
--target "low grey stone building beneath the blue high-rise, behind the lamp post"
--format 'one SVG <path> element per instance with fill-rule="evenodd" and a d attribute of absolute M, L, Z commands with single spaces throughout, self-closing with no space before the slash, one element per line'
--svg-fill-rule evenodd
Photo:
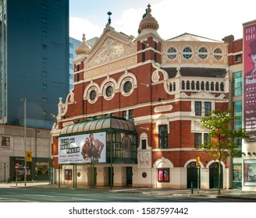
<path fill-rule="evenodd" d="M 26 163 L 26 181 L 50 181 L 52 135 L 48 129 L 1 124 L 0 140 L 0 182 L 24 181 L 25 151 L 31 157 Z"/>

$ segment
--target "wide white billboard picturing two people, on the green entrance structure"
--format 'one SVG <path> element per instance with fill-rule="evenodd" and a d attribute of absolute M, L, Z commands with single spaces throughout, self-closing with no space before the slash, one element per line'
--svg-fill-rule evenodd
<path fill-rule="evenodd" d="M 59 164 L 105 163 L 106 133 L 59 137 Z"/>

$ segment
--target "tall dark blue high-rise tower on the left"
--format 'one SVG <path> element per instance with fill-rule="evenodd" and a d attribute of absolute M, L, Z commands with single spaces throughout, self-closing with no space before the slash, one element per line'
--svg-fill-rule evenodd
<path fill-rule="evenodd" d="M 69 93 L 69 1 L 0 1 L 0 123 L 52 128 Z"/>

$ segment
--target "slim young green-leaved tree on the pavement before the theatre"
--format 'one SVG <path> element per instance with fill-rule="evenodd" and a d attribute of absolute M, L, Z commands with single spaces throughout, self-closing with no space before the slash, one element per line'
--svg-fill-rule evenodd
<path fill-rule="evenodd" d="M 221 160 L 228 156 L 236 156 L 238 145 L 234 142 L 234 138 L 248 138 L 245 128 L 234 129 L 233 124 L 239 118 L 232 117 L 231 110 L 210 112 L 208 117 L 201 118 L 201 125 L 209 130 L 208 135 L 211 140 L 204 142 L 204 145 L 199 147 L 205 152 L 219 160 L 219 185 L 218 195 L 220 195 L 220 178 L 221 178 Z"/>

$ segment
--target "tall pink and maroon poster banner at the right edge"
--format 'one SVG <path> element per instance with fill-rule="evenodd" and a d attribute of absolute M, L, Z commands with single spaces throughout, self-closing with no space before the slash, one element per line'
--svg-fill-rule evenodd
<path fill-rule="evenodd" d="M 244 24 L 244 128 L 256 141 L 256 21 Z"/>

